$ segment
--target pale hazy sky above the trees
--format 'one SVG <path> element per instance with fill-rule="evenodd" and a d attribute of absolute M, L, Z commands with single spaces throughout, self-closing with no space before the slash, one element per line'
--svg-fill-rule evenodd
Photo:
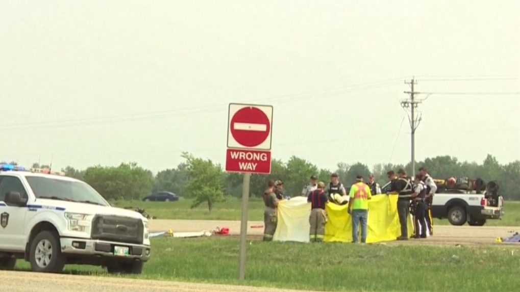
<path fill-rule="evenodd" d="M 2 1 L 2 160 L 224 163 L 229 102 L 274 106 L 274 157 L 520 159 L 520 1 Z M 426 95 L 422 95 L 423 98 Z M 401 123 L 402 122 L 402 123 Z"/>

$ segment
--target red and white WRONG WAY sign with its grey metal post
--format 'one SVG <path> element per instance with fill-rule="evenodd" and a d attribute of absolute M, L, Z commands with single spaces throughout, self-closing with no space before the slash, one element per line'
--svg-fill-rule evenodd
<path fill-rule="evenodd" d="M 272 106 L 229 104 L 226 171 L 244 174 L 238 279 L 245 279 L 251 174 L 271 173 Z"/>

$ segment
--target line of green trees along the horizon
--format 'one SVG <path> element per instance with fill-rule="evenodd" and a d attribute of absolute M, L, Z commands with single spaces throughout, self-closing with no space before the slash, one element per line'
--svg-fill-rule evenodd
<path fill-rule="evenodd" d="M 225 200 L 226 196 L 239 197 L 242 194 L 242 175 L 228 174 L 222 166 L 183 153 L 184 161 L 174 168 L 159 171 L 153 175 L 150 170 L 136 163 L 122 163 L 119 166 L 92 166 L 84 170 L 72 166 L 62 171 L 70 177 L 81 179 L 92 185 L 107 200 L 139 200 L 154 191 L 170 191 L 180 196 L 193 198 L 193 207 L 207 204 L 211 210 L 215 202 Z M 33 165 L 37 166 L 37 165 Z M 492 155 L 487 155 L 482 163 L 460 162 L 456 157 L 437 156 L 416 162 L 416 167 L 424 166 L 434 178 L 449 177 L 482 178 L 484 181 L 497 181 L 500 194 L 506 200 L 520 200 L 520 161 L 500 164 Z M 357 162 L 337 164 L 336 172 L 340 180 L 349 185 L 355 182 L 357 175 L 368 178 L 370 174 L 384 184 L 387 182 L 386 172 L 404 168 L 411 174 L 411 163 L 376 164 L 370 169 L 366 164 Z M 282 180 L 288 195 L 301 193 L 311 175 L 317 175 L 319 180 L 328 182 L 332 173 L 330 169 L 319 168 L 317 165 L 292 156 L 288 161 L 273 160 L 270 175 L 251 176 L 251 195 L 261 196 L 269 179 Z"/>

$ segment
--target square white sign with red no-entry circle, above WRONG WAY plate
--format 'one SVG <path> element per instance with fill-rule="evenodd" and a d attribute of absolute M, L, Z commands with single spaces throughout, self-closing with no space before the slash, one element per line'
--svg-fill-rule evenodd
<path fill-rule="evenodd" d="M 270 150 L 272 106 L 230 103 L 228 148 Z"/>

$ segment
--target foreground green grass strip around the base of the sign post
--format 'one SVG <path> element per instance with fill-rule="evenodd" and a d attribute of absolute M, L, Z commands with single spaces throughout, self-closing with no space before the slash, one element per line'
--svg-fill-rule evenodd
<path fill-rule="evenodd" d="M 238 239 L 159 238 L 138 278 L 332 291 L 517 291 L 520 249 L 264 243 L 248 245 L 245 283 L 237 278 Z M 19 261 L 19 268 L 28 269 Z M 66 272 L 106 276 L 100 268 Z"/>

